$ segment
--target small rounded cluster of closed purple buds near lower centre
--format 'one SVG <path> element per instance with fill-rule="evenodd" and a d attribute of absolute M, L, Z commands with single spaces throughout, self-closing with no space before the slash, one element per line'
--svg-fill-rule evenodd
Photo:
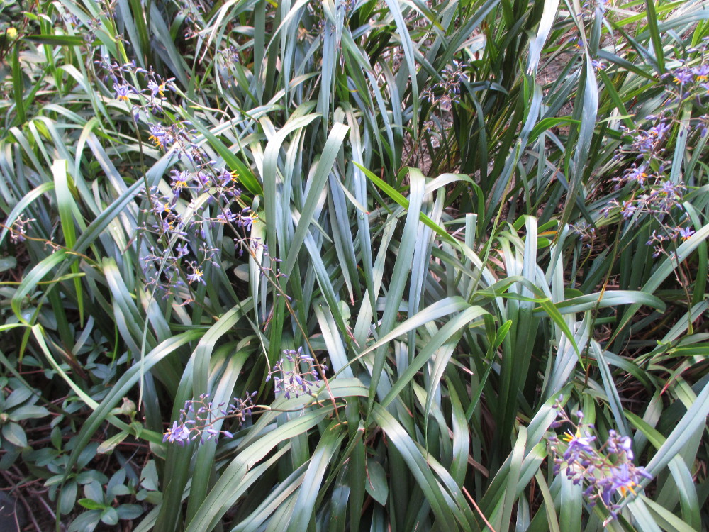
<path fill-rule="evenodd" d="M 315 395 L 322 385 L 320 375 L 328 370 L 310 355 L 298 350 L 284 350 L 284 358 L 274 364 L 266 377 L 266 382 L 273 379 L 277 393 L 284 394 L 286 399 L 301 395 Z"/>

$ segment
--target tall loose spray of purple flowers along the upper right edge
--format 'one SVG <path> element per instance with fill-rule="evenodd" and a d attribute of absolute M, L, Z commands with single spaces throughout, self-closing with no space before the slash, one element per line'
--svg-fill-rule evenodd
<path fill-rule="evenodd" d="M 603 11 L 603 4 L 593 5 L 589 1 L 584 9 L 600 7 Z M 683 57 L 668 61 L 669 70 L 659 81 L 665 94 L 661 110 L 638 117 L 636 128 L 620 128 L 623 145 L 614 161 L 624 170 L 613 179 L 620 194 L 601 211 L 604 216 L 619 214 L 629 223 L 652 224 L 647 245 L 653 246 L 655 257 L 673 257 L 681 240 L 694 233 L 683 205 L 691 180 L 686 183 L 680 178 L 677 166 L 684 162 L 672 160 L 669 154 L 682 135 L 686 135 L 684 142 L 692 153 L 698 145 L 703 146 L 699 139 L 709 132 L 709 38 L 682 52 Z M 683 117 L 681 122 L 678 116 Z M 694 160 L 703 160 L 698 155 Z"/>

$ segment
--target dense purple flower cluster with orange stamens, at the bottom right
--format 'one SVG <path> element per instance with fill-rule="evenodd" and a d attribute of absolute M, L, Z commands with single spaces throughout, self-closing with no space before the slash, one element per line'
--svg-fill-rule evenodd
<path fill-rule="evenodd" d="M 651 479 L 644 468 L 633 463 L 632 439 L 609 431 L 608 439 L 596 448 L 597 439 L 591 424 L 583 423 L 584 414 L 577 411 L 571 418 L 561 406 L 562 397 L 554 405 L 557 420 L 552 428 L 567 425 L 571 428 L 561 438 L 549 436 L 550 448 L 554 455 L 554 475 L 564 472 L 574 484 L 583 484 L 584 498 L 588 504 L 601 504 L 608 509 L 606 523 L 618 516 L 618 510 L 629 494 L 637 494 L 642 478 Z"/>

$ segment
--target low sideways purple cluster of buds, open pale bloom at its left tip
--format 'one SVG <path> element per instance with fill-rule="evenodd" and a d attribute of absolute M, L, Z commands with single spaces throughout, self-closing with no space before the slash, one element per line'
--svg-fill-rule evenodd
<path fill-rule="evenodd" d="M 214 428 L 218 421 L 236 421 L 237 428 L 240 428 L 247 418 L 250 418 L 255 408 L 253 398 L 256 392 L 246 394 L 244 399 L 235 397 L 230 404 L 213 404 L 208 400 L 208 394 L 202 394 L 199 399 L 186 401 L 184 408 L 180 411 L 179 419 L 172 422 L 172 426 L 167 428 L 162 441 L 186 445 L 194 440 L 204 443 L 212 438 L 223 436 L 233 438 L 230 431 L 218 430 Z"/>

